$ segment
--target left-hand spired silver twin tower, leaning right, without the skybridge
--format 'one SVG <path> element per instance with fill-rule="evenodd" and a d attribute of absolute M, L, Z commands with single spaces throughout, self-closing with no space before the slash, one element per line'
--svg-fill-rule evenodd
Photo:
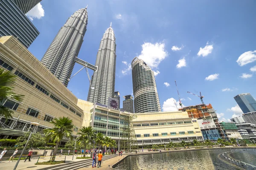
<path fill-rule="evenodd" d="M 87 27 L 87 7 L 76 11 L 58 31 L 41 62 L 67 86 Z"/>

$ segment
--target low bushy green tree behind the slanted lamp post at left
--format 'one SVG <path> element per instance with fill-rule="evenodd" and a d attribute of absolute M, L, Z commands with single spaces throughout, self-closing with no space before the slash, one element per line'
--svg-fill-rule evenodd
<path fill-rule="evenodd" d="M 29 139 L 30 132 L 24 133 L 22 136 L 16 139 L 16 145 L 18 147 L 25 146 L 27 140 Z M 29 143 L 27 148 L 31 147 L 44 147 L 46 144 L 46 139 L 44 136 L 41 136 L 41 133 L 32 133 L 31 138 L 29 139 Z"/>

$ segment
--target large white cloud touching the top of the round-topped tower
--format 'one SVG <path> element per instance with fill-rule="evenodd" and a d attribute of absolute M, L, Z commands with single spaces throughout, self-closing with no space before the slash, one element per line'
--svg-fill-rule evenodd
<path fill-rule="evenodd" d="M 157 68 L 160 62 L 168 56 L 168 52 L 164 47 L 164 43 L 157 42 L 152 44 L 150 42 L 145 42 L 142 45 L 142 51 L 138 58 L 143 59 L 150 68 Z"/>

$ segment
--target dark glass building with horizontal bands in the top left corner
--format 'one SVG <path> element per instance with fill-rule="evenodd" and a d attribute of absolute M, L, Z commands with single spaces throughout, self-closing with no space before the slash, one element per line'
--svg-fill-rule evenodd
<path fill-rule="evenodd" d="M 13 0 L 0 0 L 0 37 L 9 35 L 29 48 L 39 31 Z"/>

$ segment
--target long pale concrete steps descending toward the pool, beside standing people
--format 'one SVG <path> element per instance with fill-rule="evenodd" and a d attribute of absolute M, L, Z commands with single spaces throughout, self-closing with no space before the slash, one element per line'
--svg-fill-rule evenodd
<path fill-rule="evenodd" d="M 106 159 L 111 159 L 113 157 L 118 156 L 117 154 L 113 154 L 113 155 L 108 155 L 108 156 L 103 156 L 102 157 L 102 161 L 106 160 Z M 97 159 L 98 160 L 98 159 Z M 45 167 L 45 168 L 41 168 L 38 170 L 77 170 L 81 167 L 86 167 L 88 165 L 92 164 L 93 159 L 86 159 L 86 160 L 81 160 L 81 161 L 76 161 L 76 162 L 70 162 L 70 163 L 66 163 L 66 164 L 57 164 L 51 167 Z"/>

